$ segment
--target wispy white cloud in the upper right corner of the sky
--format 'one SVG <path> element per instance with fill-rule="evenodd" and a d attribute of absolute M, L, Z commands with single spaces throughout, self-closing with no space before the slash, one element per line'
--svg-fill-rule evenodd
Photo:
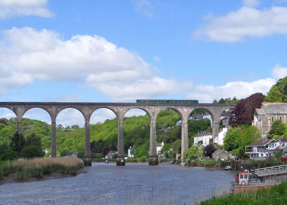
<path fill-rule="evenodd" d="M 245 1 L 239 10 L 226 16 L 208 14 L 208 23 L 195 31 L 197 38 L 215 42 L 240 42 L 245 38 L 287 35 L 287 8 L 272 6 L 258 10 L 253 8 L 258 1 Z"/>

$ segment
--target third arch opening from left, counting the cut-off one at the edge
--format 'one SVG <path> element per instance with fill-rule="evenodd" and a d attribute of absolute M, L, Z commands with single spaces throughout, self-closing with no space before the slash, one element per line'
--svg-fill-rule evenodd
<path fill-rule="evenodd" d="M 85 156 L 85 118 L 78 109 L 62 109 L 56 117 L 57 156 Z"/>

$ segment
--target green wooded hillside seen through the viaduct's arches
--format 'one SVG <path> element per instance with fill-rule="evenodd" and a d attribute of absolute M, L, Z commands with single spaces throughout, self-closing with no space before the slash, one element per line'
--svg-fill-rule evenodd
<path fill-rule="evenodd" d="M 10 120 L 2 119 L 7 122 L 0 124 L 0 143 L 10 143 L 10 138 L 17 129 L 16 118 Z M 180 135 L 181 127 L 176 125 L 180 116 L 172 111 L 165 110 L 159 113 L 156 119 L 157 141 L 169 143 L 174 150 L 180 152 Z M 124 118 L 124 152 L 127 152 L 131 146 L 135 150 L 149 150 L 150 136 L 150 119 L 148 115 L 133 116 Z M 210 130 L 209 120 L 189 120 L 189 138 L 193 137 L 200 131 Z M 51 125 L 39 120 L 23 119 L 23 135 L 27 137 L 32 133 L 41 138 L 42 147 L 50 150 L 51 146 Z M 101 153 L 102 156 L 109 150 L 117 150 L 118 141 L 118 120 L 106 120 L 102 124 L 91 124 L 91 150 L 92 153 Z M 57 154 L 61 156 L 76 153 L 83 156 L 85 143 L 84 128 L 58 128 L 57 127 Z M 100 155 L 97 155 L 100 156 Z"/>

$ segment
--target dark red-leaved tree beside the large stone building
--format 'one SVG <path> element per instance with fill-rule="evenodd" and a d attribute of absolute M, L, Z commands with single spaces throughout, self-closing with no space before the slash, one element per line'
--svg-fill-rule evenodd
<path fill-rule="evenodd" d="M 252 94 L 245 100 L 238 102 L 231 111 L 229 124 L 231 126 L 241 126 L 243 124 L 251 125 L 254 118 L 254 111 L 260 108 L 264 101 L 264 95 L 261 93 Z"/>

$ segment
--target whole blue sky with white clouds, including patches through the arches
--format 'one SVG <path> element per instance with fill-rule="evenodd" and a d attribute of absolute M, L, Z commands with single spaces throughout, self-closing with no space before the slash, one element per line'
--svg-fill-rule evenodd
<path fill-rule="evenodd" d="M 0 101 L 246 98 L 287 75 L 286 49 L 287 0 L 0 0 Z"/>

